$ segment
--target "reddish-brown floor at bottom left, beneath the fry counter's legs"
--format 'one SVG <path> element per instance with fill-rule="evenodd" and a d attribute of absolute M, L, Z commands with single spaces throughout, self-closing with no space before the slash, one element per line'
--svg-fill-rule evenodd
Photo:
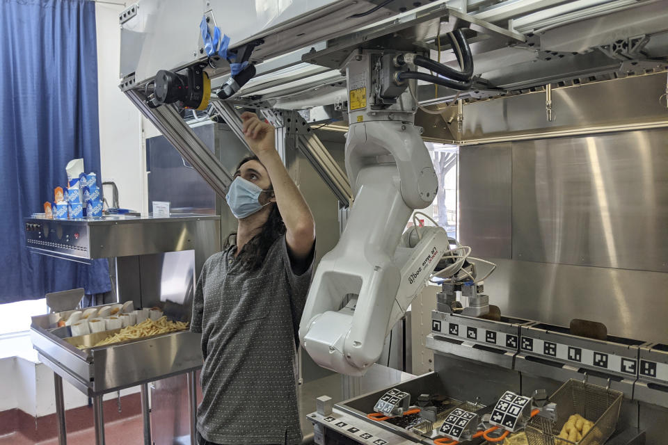
<path fill-rule="evenodd" d="M 143 428 L 140 416 L 107 423 L 104 428 L 106 445 L 142 445 Z M 67 445 L 94 445 L 95 428 L 67 434 Z M 0 445 L 58 445 L 58 438 L 32 442 L 19 434 L 0 436 Z"/>

